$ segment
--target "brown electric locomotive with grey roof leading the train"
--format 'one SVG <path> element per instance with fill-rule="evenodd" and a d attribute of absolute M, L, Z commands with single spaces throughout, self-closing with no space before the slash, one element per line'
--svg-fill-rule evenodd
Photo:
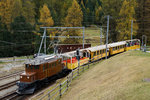
<path fill-rule="evenodd" d="M 20 75 L 20 81 L 17 82 L 17 93 L 32 94 L 37 86 L 60 73 L 63 68 L 62 58 L 55 55 L 39 56 L 28 61 L 25 64 L 25 72 Z"/>

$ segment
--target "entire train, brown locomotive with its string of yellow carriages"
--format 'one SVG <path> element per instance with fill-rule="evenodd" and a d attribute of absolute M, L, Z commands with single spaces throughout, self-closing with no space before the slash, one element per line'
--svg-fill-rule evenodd
<path fill-rule="evenodd" d="M 107 46 L 107 51 L 106 45 L 99 45 L 57 55 L 37 56 L 25 63 L 25 71 L 16 83 L 18 86 L 16 92 L 18 94 L 33 94 L 39 86 L 42 86 L 54 76 L 68 70 L 72 71 L 78 66 L 97 61 L 106 56 L 110 57 L 135 49 L 140 49 L 139 39 L 110 43 Z"/>

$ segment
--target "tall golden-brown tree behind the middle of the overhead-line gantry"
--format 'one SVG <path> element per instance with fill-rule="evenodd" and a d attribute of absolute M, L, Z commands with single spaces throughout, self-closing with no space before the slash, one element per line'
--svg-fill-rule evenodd
<path fill-rule="evenodd" d="M 80 27 L 82 26 L 83 13 L 80 5 L 76 0 L 73 0 L 72 6 L 68 9 L 68 14 L 65 18 L 65 26 L 67 27 Z M 68 30 L 65 34 L 66 36 L 80 36 L 80 31 L 75 29 Z M 63 43 L 80 43 L 80 39 L 70 39 L 67 38 Z"/>

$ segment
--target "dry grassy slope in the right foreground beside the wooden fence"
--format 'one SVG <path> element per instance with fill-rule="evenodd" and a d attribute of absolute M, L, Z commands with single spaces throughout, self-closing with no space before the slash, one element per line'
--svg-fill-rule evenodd
<path fill-rule="evenodd" d="M 73 81 L 61 100 L 149 100 L 150 54 L 129 51 L 104 60 Z"/>

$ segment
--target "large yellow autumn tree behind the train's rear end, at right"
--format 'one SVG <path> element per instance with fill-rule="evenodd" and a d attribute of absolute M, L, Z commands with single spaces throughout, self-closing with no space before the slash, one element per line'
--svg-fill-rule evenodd
<path fill-rule="evenodd" d="M 136 21 L 136 19 L 134 18 L 135 7 L 136 1 L 133 2 L 125 0 L 122 4 L 122 8 L 119 13 L 120 18 L 117 20 L 118 23 L 116 27 L 116 30 L 119 32 L 119 40 L 126 40 L 131 38 L 131 20 L 133 20 L 134 22 Z M 135 31 L 138 29 L 138 25 L 136 23 L 134 23 L 133 29 L 133 36 L 135 36 Z"/>

